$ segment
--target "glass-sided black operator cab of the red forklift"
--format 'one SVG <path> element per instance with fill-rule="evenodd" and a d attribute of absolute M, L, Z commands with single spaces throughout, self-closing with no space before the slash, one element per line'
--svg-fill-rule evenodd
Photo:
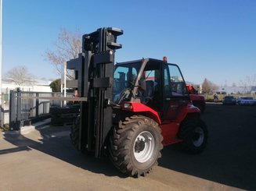
<path fill-rule="evenodd" d="M 145 104 L 162 120 L 175 119 L 189 92 L 178 65 L 146 58 L 115 65 L 114 103 L 124 101 Z"/>

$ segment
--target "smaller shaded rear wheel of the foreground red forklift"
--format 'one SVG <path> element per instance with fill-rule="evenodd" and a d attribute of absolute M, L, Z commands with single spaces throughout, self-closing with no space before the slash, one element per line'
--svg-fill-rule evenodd
<path fill-rule="evenodd" d="M 183 140 L 182 147 L 190 154 L 198 154 L 204 150 L 208 139 L 208 130 L 200 119 L 182 122 L 178 137 Z"/>

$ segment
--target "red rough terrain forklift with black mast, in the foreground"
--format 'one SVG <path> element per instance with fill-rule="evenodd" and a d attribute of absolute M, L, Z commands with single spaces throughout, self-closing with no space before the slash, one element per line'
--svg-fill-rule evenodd
<path fill-rule="evenodd" d="M 82 53 L 67 62 L 74 69 L 80 115 L 71 128 L 74 146 L 101 157 L 107 153 L 121 172 L 139 177 L 150 172 L 163 146 L 181 143 L 197 154 L 207 143 L 207 126 L 178 65 L 142 58 L 114 65 L 121 44 L 117 28 L 100 28 L 82 37 Z"/>

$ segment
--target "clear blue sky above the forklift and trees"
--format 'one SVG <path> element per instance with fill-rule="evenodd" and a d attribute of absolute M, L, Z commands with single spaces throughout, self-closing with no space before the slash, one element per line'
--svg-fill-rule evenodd
<path fill-rule="evenodd" d="M 60 29 L 91 33 L 118 27 L 116 62 L 168 57 L 187 81 L 239 85 L 256 74 L 254 0 L 2 0 L 2 73 L 26 65 L 56 79 L 45 61 Z"/>

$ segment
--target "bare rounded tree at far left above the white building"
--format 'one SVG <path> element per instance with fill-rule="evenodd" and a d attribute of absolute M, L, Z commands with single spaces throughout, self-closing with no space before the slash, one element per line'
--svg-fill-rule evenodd
<path fill-rule="evenodd" d="M 18 86 L 31 85 L 35 82 L 34 75 L 28 72 L 26 66 L 16 66 L 5 73 L 4 81 L 15 83 Z"/>

